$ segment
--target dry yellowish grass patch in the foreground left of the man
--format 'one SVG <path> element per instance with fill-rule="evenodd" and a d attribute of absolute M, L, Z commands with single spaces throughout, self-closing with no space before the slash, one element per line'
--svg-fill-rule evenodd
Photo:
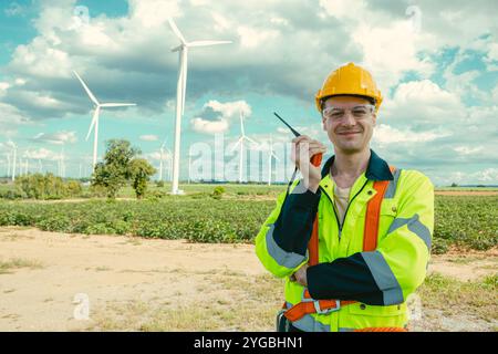
<path fill-rule="evenodd" d="M 183 271 L 185 273 L 185 271 Z M 282 281 L 270 275 L 247 277 L 226 271 L 200 271 L 197 300 L 181 292 L 162 303 L 134 301 L 96 311 L 96 331 L 272 331 L 282 302 Z"/>

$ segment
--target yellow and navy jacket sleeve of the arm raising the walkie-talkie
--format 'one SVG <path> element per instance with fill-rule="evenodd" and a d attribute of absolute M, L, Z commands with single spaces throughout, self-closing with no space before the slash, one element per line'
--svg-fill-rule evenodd
<path fill-rule="evenodd" d="M 320 191 L 302 190 L 300 184 L 286 198 L 282 192 L 256 237 L 256 254 L 279 278 L 292 274 L 308 261 L 308 242 L 320 201 Z"/>

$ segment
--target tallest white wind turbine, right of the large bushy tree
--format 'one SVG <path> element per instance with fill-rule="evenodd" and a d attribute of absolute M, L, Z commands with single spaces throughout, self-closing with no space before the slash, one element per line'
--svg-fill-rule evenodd
<path fill-rule="evenodd" d="M 172 52 L 178 52 L 178 82 L 176 86 L 176 121 L 175 121 L 175 145 L 173 149 L 173 183 L 172 194 L 180 195 L 181 190 L 178 189 L 179 179 L 179 155 L 180 155 L 180 131 L 181 131 L 181 116 L 185 112 L 185 96 L 187 91 L 187 53 L 189 48 L 195 46 L 209 46 L 218 44 L 228 44 L 231 41 L 194 41 L 187 42 L 181 32 L 176 27 L 173 19 L 168 19 L 169 27 L 176 37 L 180 40 L 180 45 L 173 48 Z"/>

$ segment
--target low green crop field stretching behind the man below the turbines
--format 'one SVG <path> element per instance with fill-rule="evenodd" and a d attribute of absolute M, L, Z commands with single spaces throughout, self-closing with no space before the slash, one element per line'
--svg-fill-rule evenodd
<path fill-rule="evenodd" d="M 284 186 L 187 185 L 187 195 L 167 195 L 167 186 L 151 188 L 145 200 L 89 199 L 44 202 L 0 201 L 0 226 L 42 230 L 187 239 L 193 242 L 252 242 Z M 159 191 L 159 194 L 157 194 Z M 128 195 L 127 195 L 128 194 Z M 131 190 L 122 196 L 131 197 Z M 498 243 L 498 196 L 436 196 L 433 252 L 458 246 L 487 250 Z"/>

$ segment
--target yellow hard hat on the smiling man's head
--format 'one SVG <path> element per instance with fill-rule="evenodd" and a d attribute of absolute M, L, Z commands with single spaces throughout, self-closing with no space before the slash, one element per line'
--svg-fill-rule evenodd
<path fill-rule="evenodd" d="M 322 100 L 330 96 L 352 95 L 366 96 L 375 101 L 375 112 L 382 103 L 381 91 L 375 85 L 372 75 L 365 69 L 347 63 L 333 71 L 326 77 L 315 96 L 317 108 L 322 112 Z"/>

